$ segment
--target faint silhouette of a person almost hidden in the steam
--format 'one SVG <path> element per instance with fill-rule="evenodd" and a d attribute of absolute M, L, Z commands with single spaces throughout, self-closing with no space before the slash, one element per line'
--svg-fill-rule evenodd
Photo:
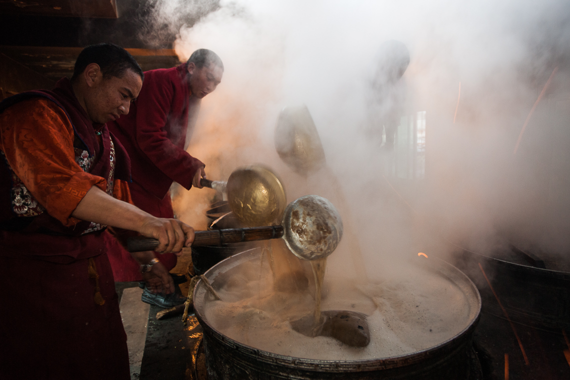
<path fill-rule="evenodd" d="M 409 64 L 410 53 L 404 43 L 389 40 L 381 44 L 372 81 L 369 132 L 382 140 L 381 146 L 386 152 L 394 150 L 396 129 L 404 115 L 406 87 L 401 78 Z"/>

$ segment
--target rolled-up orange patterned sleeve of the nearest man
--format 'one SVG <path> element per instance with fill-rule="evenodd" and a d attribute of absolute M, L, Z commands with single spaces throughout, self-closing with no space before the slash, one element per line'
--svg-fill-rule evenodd
<path fill-rule="evenodd" d="M 65 226 L 93 185 L 105 190 L 107 181 L 86 173 L 75 162 L 71 122 L 50 100 L 17 103 L 0 115 L 0 140 L 8 164 L 28 191 Z"/>

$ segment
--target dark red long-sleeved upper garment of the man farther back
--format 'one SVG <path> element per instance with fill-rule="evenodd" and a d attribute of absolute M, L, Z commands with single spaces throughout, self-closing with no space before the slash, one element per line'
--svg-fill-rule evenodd
<path fill-rule="evenodd" d="M 173 181 L 190 189 L 194 174 L 205 166 L 184 150 L 189 115 L 196 122 L 192 116 L 200 103 L 189 107 L 186 64 L 145 71 L 144 75 L 143 87 L 128 115 L 107 125 L 131 157 L 133 181 L 163 199 Z"/>

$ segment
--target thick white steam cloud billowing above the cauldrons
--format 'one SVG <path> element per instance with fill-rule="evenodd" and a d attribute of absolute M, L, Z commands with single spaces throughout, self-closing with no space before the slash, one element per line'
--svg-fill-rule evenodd
<path fill-rule="evenodd" d="M 444 254 L 461 246 L 484 254 L 507 240 L 568 252 L 567 1 L 157 4 L 160 17 L 172 17 L 173 25 L 215 9 L 183 26 L 174 43 L 181 60 L 209 48 L 225 64 L 222 83 L 202 101 L 189 146 L 210 179 L 227 179 L 236 167 L 259 162 L 283 180 L 288 201 L 314 193 L 344 203 L 340 208 L 350 214 L 365 259 L 376 264 L 369 268 L 378 270 L 417 252 Z M 401 79 L 407 89 L 402 116 L 426 112 L 425 178 L 389 173 L 386 162 L 400 148 L 383 153 L 380 129 L 373 138 L 367 132 L 375 128 L 369 105 L 378 48 L 390 39 L 410 51 Z M 555 67 L 514 154 L 524 120 Z M 304 178 L 275 152 L 279 111 L 299 104 L 311 112 L 334 175 Z M 178 215 L 205 228 L 203 210 L 213 194 L 179 193 Z"/>

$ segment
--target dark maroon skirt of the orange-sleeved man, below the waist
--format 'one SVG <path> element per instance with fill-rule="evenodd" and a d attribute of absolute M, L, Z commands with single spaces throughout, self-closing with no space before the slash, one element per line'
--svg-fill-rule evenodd
<path fill-rule="evenodd" d="M 67 264 L 2 258 L 1 379 L 131 378 L 111 265 L 105 254 L 93 260 L 103 305 L 93 302 L 88 258 Z"/>

